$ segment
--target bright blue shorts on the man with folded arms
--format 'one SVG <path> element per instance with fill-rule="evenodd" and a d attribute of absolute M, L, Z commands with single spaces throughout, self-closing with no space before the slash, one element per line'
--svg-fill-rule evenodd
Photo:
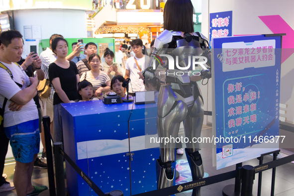
<path fill-rule="evenodd" d="M 39 119 L 4 127 L 16 161 L 30 163 L 40 151 Z"/>

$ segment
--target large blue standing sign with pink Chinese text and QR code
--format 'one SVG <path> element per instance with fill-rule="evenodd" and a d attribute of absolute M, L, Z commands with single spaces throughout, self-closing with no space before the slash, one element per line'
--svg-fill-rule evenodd
<path fill-rule="evenodd" d="M 281 36 L 213 38 L 216 167 L 279 147 Z"/>

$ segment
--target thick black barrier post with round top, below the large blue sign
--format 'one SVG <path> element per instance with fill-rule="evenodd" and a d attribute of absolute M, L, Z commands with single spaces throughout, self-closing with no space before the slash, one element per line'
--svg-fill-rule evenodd
<path fill-rule="evenodd" d="M 241 196 L 252 196 L 254 175 L 253 166 L 244 165 L 242 167 Z"/>

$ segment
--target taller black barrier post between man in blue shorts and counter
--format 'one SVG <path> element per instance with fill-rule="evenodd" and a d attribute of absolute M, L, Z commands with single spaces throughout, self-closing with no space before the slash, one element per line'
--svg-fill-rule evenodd
<path fill-rule="evenodd" d="M 47 155 L 49 190 L 42 192 L 41 194 L 39 194 L 39 196 L 48 196 L 48 195 L 49 196 L 56 196 L 53 158 L 52 158 L 52 146 L 51 146 L 51 136 L 50 136 L 50 117 L 49 116 L 43 116 L 43 126 L 44 126 L 45 146 L 46 146 L 46 155 Z"/>

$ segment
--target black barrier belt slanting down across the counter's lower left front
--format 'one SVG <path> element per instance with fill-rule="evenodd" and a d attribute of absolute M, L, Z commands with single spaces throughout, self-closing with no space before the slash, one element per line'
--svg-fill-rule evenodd
<path fill-rule="evenodd" d="M 97 185 L 75 164 L 75 162 L 62 150 L 60 153 L 64 156 L 67 162 L 76 170 L 76 172 L 84 179 L 84 181 L 97 193 L 98 196 L 105 196 L 105 194 L 97 187 Z"/>

